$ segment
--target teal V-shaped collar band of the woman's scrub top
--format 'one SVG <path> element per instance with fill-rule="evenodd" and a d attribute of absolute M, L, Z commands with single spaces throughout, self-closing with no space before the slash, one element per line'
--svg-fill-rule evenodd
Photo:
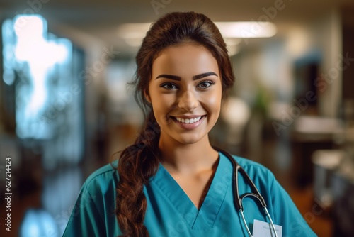
<path fill-rule="evenodd" d="M 190 228 L 203 229 L 212 228 L 214 225 L 232 180 L 231 174 L 232 166 L 227 162 L 227 158 L 219 153 L 217 170 L 199 210 L 161 163 L 151 182 L 166 195 Z"/>

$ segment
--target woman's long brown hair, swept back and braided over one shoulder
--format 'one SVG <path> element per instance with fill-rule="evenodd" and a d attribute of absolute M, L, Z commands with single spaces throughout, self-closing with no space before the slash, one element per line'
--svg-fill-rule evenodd
<path fill-rule="evenodd" d="M 159 166 L 160 128 L 154 118 L 151 104 L 146 100 L 152 63 L 167 47 L 194 43 L 202 45 L 212 53 L 222 75 L 222 95 L 234 84 L 234 73 L 227 54 L 226 44 L 214 23 L 207 16 L 194 12 L 173 12 L 159 18 L 145 36 L 136 57 L 137 71 L 132 82 L 135 99 L 144 111 L 145 123 L 133 145 L 125 148 L 118 161 L 119 181 L 115 215 L 122 236 L 149 236 L 144 226 L 147 199 L 144 184 L 149 184 Z"/>

